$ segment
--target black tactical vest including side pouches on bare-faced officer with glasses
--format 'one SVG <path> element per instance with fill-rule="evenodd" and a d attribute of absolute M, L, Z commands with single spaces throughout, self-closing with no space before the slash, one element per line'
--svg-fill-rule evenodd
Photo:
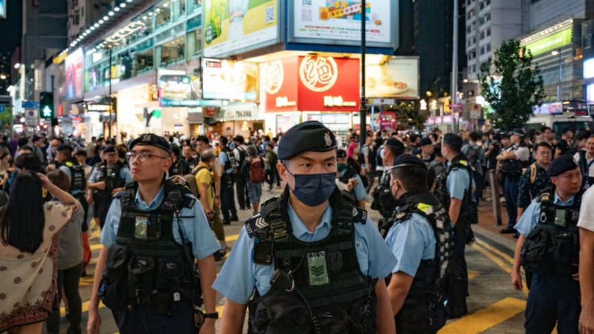
<path fill-rule="evenodd" d="M 192 244 L 178 244 L 172 233 L 174 220 L 179 235 L 183 207 L 191 209 L 196 200 L 173 181 L 164 184 L 166 198 L 157 209 L 135 207 L 137 185 L 116 194 L 122 218 L 116 244 L 109 246 L 107 266 L 99 285 L 99 297 L 112 310 L 151 305 L 155 315 L 170 314 L 170 307 L 181 299 L 199 307 L 203 304 L 200 279 L 190 253 Z"/>

